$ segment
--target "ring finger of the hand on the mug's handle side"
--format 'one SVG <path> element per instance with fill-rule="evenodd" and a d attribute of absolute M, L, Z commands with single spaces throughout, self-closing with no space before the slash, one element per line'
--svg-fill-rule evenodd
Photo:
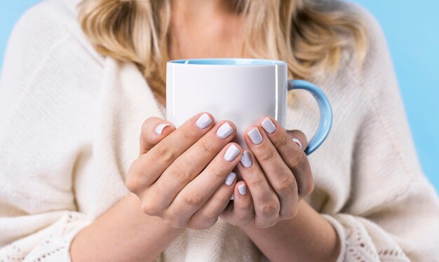
<path fill-rule="evenodd" d="M 238 163 L 237 167 L 243 181 L 245 181 L 248 192 L 251 192 L 252 202 L 255 206 L 255 224 L 259 227 L 268 227 L 281 211 L 281 202 L 278 195 L 273 191 L 266 175 L 262 172 L 250 150 L 243 153 L 241 162 Z"/>

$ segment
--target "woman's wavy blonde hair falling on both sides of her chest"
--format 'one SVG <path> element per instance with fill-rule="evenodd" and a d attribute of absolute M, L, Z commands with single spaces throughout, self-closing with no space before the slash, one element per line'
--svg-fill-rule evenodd
<path fill-rule="evenodd" d="M 160 95 L 166 95 L 170 1 L 83 0 L 79 6 L 81 27 L 97 51 L 134 62 Z M 349 43 L 346 33 L 355 41 L 358 62 L 363 60 L 367 32 L 356 13 L 321 8 L 317 0 L 229 1 L 245 16 L 246 53 L 285 60 L 290 78 L 337 69 Z"/>

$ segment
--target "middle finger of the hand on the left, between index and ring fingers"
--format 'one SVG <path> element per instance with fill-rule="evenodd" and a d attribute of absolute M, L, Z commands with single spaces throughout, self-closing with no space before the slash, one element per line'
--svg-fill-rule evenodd
<path fill-rule="evenodd" d="M 224 146 L 234 138 L 235 133 L 234 123 L 230 121 L 217 123 L 212 130 L 198 139 L 166 168 L 157 181 L 151 185 L 147 195 L 152 197 L 166 191 L 166 194 L 161 194 L 160 198 L 155 199 L 157 205 L 168 207 L 184 186 L 187 186 L 194 177 L 198 176 L 219 151 L 224 149 Z"/>

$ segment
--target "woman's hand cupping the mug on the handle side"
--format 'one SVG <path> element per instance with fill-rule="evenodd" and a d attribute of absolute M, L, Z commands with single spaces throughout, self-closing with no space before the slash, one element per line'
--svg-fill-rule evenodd
<path fill-rule="evenodd" d="M 308 144 L 298 130 L 285 130 L 271 117 L 245 131 L 238 170 L 243 181 L 234 190 L 221 218 L 235 226 L 269 228 L 292 219 L 299 201 L 313 191 L 313 176 L 304 149 Z"/>

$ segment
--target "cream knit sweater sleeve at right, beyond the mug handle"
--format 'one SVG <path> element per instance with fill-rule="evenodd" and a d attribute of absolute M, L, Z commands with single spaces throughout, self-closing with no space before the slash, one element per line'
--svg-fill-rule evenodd
<path fill-rule="evenodd" d="M 369 48 L 363 69 L 350 70 L 369 109 L 356 135 L 349 201 L 323 216 L 341 240 L 338 261 L 435 261 L 438 197 L 419 167 L 384 35 L 362 13 Z"/>

